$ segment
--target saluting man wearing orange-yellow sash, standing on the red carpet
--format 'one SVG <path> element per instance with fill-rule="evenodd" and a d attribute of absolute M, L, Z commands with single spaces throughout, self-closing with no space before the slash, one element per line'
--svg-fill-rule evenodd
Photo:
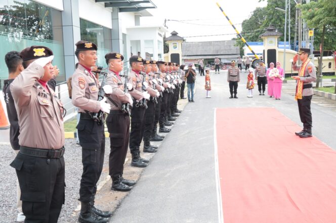
<path fill-rule="evenodd" d="M 312 137 L 312 113 L 310 110 L 310 104 L 313 97 L 313 85 L 312 82 L 316 81 L 316 70 L 313 62 L 309 59 L 310 49 L 300 48 L 299 52 L 294 56 L 292 62 L 292 69 L 299 71 L 298 76 L 292 78 L 298 81 L 295 99 L 298 100 L 299 114 L 301 122 L 303 123 L 303 130 L 296 132 L 297 136 L 301 138 Z M 297 61 L 300 57 L 302 62 L 301 66 L 297 65 Z"/>

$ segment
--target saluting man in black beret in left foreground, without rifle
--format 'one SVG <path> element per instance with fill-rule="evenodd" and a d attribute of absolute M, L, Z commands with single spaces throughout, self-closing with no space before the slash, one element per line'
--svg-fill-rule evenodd
<path fill-rule="evenodd" d="M 27 68 L 10 85 L 20 126 L 20 152 L 11 166 L 25 222 L 57 222 L 64 204 L 64 109 L 47 84 L 54 56 L 45 46 L 25 48 L 20 56 Z"/>

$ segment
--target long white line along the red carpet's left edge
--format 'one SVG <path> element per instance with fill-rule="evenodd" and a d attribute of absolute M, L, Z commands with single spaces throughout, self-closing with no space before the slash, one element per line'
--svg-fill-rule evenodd
<path fill-rule="evenodd" d="M 220 182 L 219 166 L 218 166 L 216 111 L 217 111 L 217 108 L 215 108 L 215 112 L 214 112 L 214 147 L 215 147 L 215 175 L 216 175 L 216 189 L 217 189 L 218 222 L 224 223 L 221 182 Z"/>

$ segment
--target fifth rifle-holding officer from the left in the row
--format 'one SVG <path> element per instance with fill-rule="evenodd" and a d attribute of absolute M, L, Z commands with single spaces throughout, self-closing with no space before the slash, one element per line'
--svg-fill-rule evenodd
<path fill-rule="evenodd" d="M 155 105 L 154 125 L 153 125 L 152 134 L 150 137 L 150 141 L 162 141 L 164 136 L 157 134 L 157 123 L 159 121 L 160 112 L 161 112 L 161 102 L 162 102 L 164 87 L 162 86 L 162 79 L 160 79 L 160 73 L 158 73 L 157 62 L 152 61 L 151 66 L 152 66 L 151 75 L 153 76 L 152 82 L 156 85 L 156 90 L 159 91 L 160 96 L 157 98 L 157 103 Z"/>

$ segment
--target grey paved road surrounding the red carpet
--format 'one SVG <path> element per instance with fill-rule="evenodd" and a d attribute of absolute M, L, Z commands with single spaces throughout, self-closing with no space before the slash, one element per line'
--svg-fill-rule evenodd
<path fill-rule="evenodd" d="M 241 74 L 238 99 L 229 99 L 227 72 L 211 73 L 212 98 L 205 98 L 204 77 L 197 76 L 195 103 L 186 105 L 111 222 L 218 222 L 214 108 L 275 107 L 301 126 L 297 102 L 292 95 L 283 93 L 281 100 L 275 100 L 266 95 L 259 96 L 258 89 L 254 89 L 254 97 L 247 98 L 246 74 Z M 284 86 L 284 92 L 294 91 L 286 88 L 293 86 Z M 312 103 L 312 113 L 313 134 L 336 149 L 335 110 Z M 253 124 L 251 117 L 249 125 Z"/>

